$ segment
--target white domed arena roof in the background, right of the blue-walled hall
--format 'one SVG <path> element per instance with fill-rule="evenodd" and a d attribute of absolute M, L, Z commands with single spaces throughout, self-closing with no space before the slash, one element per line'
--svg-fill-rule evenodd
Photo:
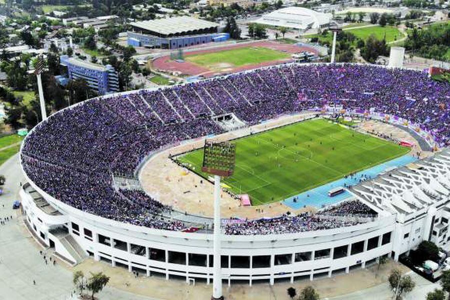
<path fill-rule="evenodd" d="M 318 28 L 329 23 L 330 13 L 321 13 L 304 7 L 285 7 L 264 14 L 255 22 L 270 26 L 295 29 Z"/>

